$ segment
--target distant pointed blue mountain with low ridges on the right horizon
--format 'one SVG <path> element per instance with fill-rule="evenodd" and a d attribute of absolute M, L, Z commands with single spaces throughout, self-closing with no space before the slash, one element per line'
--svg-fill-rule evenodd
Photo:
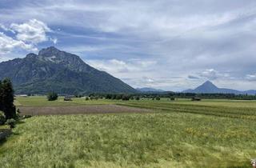
<path fill-rule="evenodd" d="M 230 90 L 226 88 L 218 88 L 212 82 L 206 81 L 201 86 L 194 90 L 184 90 L 183 93 L 196 93 L 196 94 L 256 94 L 256 90 Z"/>

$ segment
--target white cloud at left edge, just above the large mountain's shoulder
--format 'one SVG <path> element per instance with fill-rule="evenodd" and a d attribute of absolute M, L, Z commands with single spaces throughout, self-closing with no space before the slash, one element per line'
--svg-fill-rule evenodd
<path fill-rule="evenodd" d="M 36 51 L 37 49 L 31 45 L 26 44 L 25 42 L 15 40 L 14 38 L 10 38 L 0 32 L 0 54 L 6 54 L 10 51 L 14 50 L 14 48 L 22 48 L 23 50 Z"/>

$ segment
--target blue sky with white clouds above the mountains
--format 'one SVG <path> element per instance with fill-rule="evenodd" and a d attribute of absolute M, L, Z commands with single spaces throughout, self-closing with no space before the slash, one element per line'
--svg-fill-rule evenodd
<path fill-rule="evenodd" d="M 0 62 L 55 46 L 134 88 L 256 89 L 255 0 L 0 0 Z"/>

